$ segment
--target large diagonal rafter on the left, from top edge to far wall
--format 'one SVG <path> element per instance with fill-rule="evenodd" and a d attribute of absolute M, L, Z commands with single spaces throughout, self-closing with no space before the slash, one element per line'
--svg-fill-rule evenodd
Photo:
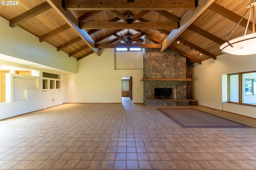
<path fill-rule="evenodd" d="M 100 56 L 100 50 L 95 48 L 95 43 L 90 35 L 84 30 L 78 27 L 78 20 L 70 13 L 70 11 L 62 8 L 61 1 L 58 0 L 46 0 L 52 8 L 63 18 L 68 25 L 81 37 L 83 41 L 92 49 L 98 56 Z"/>

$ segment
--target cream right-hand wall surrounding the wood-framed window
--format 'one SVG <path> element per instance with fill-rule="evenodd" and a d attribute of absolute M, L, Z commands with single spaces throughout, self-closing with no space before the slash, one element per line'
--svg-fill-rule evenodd
<path fill-rule="evenodd" d="M 226 103 L 226 77 L 223 74 L 256 70 L 256 55 L 237 56 L 223 54 L 217 60 L 208 59 L 202 64 L 193 64 L 193 96 L 201 106 L 230 111 L 256 118 L 256 107 Z M 222 96 L 223 95 L 223 96 Z M 223 102 L 223 103 L 222 103 Z"/>

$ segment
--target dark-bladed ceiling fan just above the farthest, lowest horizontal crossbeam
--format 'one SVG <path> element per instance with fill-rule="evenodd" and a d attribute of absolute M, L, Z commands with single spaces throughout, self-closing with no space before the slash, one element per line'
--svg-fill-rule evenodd
<path fill-rule="evenodd" d="M 113 35 L 118 38 L 119 40 L 114 42 L 120 42 L 123 41 L 124 43 L 130 45 L 132 43 L 143 43 L 143 41 L 141 39 L 139 39 L 140 37 L 142 37 L 144 35 L 144 33 L 136 33 L 134 35 L 130 36 L 130 33 L 127 33 L 127 36 L 123 35 L 122 33 L 120 33 L 122 36 L 118 35 L 117 33 L 113 33 Z"/>

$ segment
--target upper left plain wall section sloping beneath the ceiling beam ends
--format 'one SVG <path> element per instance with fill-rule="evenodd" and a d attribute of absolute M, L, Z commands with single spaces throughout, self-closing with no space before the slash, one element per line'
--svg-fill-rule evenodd
<path fill-rule="evenodd" d="M 10 27 L 9 21 L 2 17 L 0 25 L 0 54 L 76 73 L 74 57 L 57 51 L 56 47 L 47 42 L 40 43 L 38 37 L 18 26 Z"/>

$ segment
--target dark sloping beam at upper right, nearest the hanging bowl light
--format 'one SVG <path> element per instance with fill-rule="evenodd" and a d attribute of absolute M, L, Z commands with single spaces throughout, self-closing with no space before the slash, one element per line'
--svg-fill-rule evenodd
<path fill-rule="evenodd" d="M 209 6 L 209 9 L 216 12 L 217 14 L 220 14 L 221 16 L 224 16 L 225 18 L 228 18 L 231 21 L 234 21 L 235 23 L 238 23 L 241 20 L 241 16 L 216 4 L 216 3 L 212 3 Z M 242 21 L 240 22 L 240 25 L 243 27 L 246 27 L 248 20 L 246 20 L 245 18 L 242 19 Z M 248 29 L 252 31 L 252 22 L 249 22 L 248 25 Z"/>

